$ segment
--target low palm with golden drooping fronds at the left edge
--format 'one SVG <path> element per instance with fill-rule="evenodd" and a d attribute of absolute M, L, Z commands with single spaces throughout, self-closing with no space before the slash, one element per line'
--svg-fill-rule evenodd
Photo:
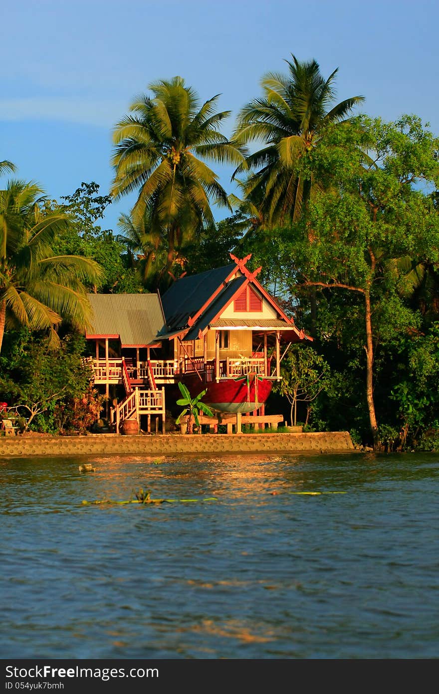
<path fill-rule="evenodd" d="M 96 284 L 101 269 L 89 258 L 53 253 L 69 216 L 43 210 L 42 194 L 22 180 L 0 190 L 0 350 L 5 328 L 49 330 L 55 348 L 62 320 L 83 331 L 91 316 L 84 282 Z"/>

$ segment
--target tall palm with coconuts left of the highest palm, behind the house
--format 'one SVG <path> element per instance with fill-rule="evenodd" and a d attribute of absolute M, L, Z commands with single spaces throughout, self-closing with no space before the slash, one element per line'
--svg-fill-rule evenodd
<path fill-rule="evenodd" d="M 114 128 L 111 194 L 118 199 L 139 192 L 132 221 L 138 225 L 148 216 L 154 234 L 165 240 L 170 270 L 188 234 L 214 227 L 211 199 L 230 208 L 218 176 L 203 160 L 245 167 L 245 157 L 218 130 L 230 114 L 216 112 L 219 95 L 200 107 L 196 92 L 181 77 L 149 89 L 153 97 L 137 96 L 131 114 Z"/>

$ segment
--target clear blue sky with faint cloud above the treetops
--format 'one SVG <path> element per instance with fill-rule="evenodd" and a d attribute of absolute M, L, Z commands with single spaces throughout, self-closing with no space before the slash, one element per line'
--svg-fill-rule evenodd
<path fill-rule="evenodd" d="M 439 134 L 437 0 L 21 0 L 3 3 L 1 159 L 51 198 L 112 179 L 112 126 L 148 84 L 184 77 L 205 101 L 231 110 L 260 94 L 291 53 L 338 67 L 338 100 L 387 120 L 415 113 Z M 230 169 L 216 167 L 227 192 Z M 107 208 L 117 230 L 134 198 Z M 222 219 L 225 210 L 216 209 Z"/>

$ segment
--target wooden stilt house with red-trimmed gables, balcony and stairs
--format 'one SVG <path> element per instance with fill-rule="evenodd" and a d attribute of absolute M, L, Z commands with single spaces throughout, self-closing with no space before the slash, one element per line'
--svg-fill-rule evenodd
<path fill-rule="evenodd" d="M 192 396 L 206 390 L 203 401 L 218 412 L 264 412 L 281 378 L 282 355 L 311 338 L 260 285 L 260 268 L 247 268 L 250 255 L 231 258 L 224 267 L 175 280 L 162 300 L 90 295 L 94 322 L 86 337 L 96 342 L 94 382 L 105 384 L 107 395 L 111 385 L 124 389 L 115 405 L 116 430 L 133 413 L 147 414 L 149 430 L 158 407 L 164 426 L 164 387 L 175 391 L 179 380 Z"/>

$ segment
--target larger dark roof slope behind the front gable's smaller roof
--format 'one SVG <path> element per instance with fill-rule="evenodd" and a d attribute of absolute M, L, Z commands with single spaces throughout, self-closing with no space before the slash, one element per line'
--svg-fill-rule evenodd
<path fill-rule="evenodd" d="M 187 328 L 189 316 L 200 310 L 234 269 L 236 264 L 232 263 L 173 282 L 162 296 L 167 329 Z"/>

